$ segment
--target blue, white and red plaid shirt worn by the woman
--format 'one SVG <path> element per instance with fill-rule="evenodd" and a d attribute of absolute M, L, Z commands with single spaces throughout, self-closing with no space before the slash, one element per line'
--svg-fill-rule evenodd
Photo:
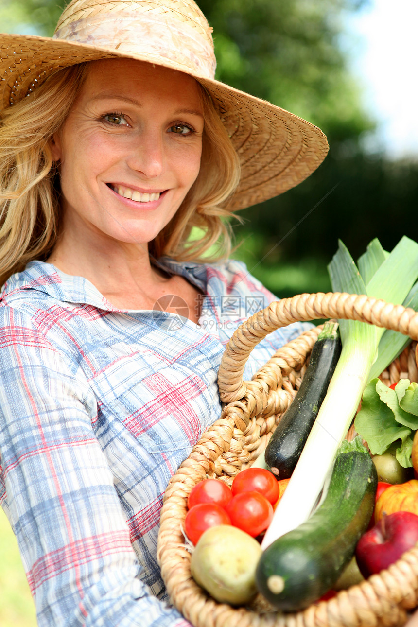
<path fill-rule="evenodd" d="M 162 497 L 221 413 L 227 339 L 274 297 L 237 261 L 165 264 L 204 293 L 199 325 L 40 261 L 1 294 L 0 502 L 41 626 L 189 625 L 155 557 Z M 244 377 L 305 329 L 269 335 Z"/>

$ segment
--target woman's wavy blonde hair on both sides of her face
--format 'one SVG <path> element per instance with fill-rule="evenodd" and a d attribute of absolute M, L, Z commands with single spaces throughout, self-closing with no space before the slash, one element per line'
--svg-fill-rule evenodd
<path fill-rule="evenodd" d="M 49 140 L 59 132 L 87 75 L 88 63 L 57 71 L 0 120 L 0 285 L 32 260 L 47 258 L 60 234 L 60 183 Z M 221 204 L 239 182 L 239 158 L 202 88 L 205 130 L 201 170 L 174 218 L 149 245 L 150 255 L 201 261 L 231 250 L 233 215 Z M 193 227 L 201 238 L 189 241 Z"/>

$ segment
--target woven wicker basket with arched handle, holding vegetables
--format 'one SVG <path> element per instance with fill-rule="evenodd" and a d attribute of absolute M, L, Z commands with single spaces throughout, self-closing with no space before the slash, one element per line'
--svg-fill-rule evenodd
<path fill-rule="evenodd" d="M 318 327 L 278 350 L 252 381 L 244 382 L 249 353 L 275 329 L 321 318 L 360 320 L 418 339 L 418 313 L 414 310 L 345 293 L 285 298 L 253 315 L 234 332 L 218 378 L 221 400 L 227 404 L 221 418 L 202 434 L 170 480 L 161 512 L 157 558 L 162 577 L 174 606 L 196 627 L 392 627 L 405 624 L 407 611 L 418 604 L 418 545 L 379 575 L 294 614 L 263 609 L 261 599 L 251 608 L 217 603 L 192 579 L 191 554 L 182 534 L 187 496 L 206 477 L 230 484 L 234 475 L 251 466 L 263 451 L 300 385 Z M 402 377 L 418 382 L 415 345 L 412 342 L 382 373 L 385 382 Z"/>

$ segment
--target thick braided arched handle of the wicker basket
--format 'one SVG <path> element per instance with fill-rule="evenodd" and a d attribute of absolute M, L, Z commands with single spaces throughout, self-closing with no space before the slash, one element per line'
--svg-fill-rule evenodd
<path fill-rule="evenodd" d="M 318 292 L 282 298 L 239 325 L 226 345 L 218 372 L 222 403 L 243 398 L 247 384 L 244 366 L 251 350 L 269 333 L 292 322 L 339 318 L 359 320 L 418 339 L 418 313 L 378 298 L 344 292 Z"/>

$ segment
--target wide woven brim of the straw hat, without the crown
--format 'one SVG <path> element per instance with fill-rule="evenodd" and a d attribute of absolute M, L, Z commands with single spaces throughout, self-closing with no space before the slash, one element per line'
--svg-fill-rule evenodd
<path fill-rule="evenodd" d="M 318 127 L 266 100 L 197 75 L 161 56 L 119 53 L 50 37 L 0 35 L 1 109 L 33 91 L 54 71 L 103 58 L 132 58 L 184 71 L 206 88 L 241 161 L 241 180 L 228 201 L 232 211 L 295 187 L 327 155 L 327 138 Z"/>

